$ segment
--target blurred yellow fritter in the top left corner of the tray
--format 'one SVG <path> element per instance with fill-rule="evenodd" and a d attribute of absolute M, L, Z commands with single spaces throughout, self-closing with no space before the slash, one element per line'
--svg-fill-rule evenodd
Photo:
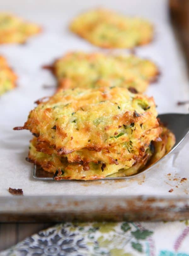
<path fill-rule="evenodd" d="M 36 24 L 8 13 L 0 13 L 0 44 L 24 43 L 40 31 L 41 28 Z"/>

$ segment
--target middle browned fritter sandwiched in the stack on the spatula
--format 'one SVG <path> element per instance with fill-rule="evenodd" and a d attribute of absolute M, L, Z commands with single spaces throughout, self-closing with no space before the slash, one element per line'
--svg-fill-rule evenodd
<path fill-rule="evenodd" d="M 135 125 L 133 123 L 131 125 L 127 128 L 130 135 L 135 130 Z M 128 167 L 131 167 L 133 164 L 131 160 L 140 161 L 140 159 L 144 157 L 146 148 L 151 141 L 159 139 L 158 135 L 161 133 L 161 130 L 161 127 L 148 130 L 140 140 L 133 137 L 132 140 L 120 143 L 117 146 L 109 146 L 108 149 L 96 151 L 82 148 L 63 156 L 67 158 L 69 163 L 79 163 L 84 167 L 86 166 L 86 168 L 90 162 L 94 162 L 95 164 L 107 163 L 116 165 L 120 162 L 124 162 Z M 49 143 L 39 142 L 37 139 L 35 141 L 35 148 L 38 152 L 49 155 L 57 154 L 56 150 L 54 150 Z"/>

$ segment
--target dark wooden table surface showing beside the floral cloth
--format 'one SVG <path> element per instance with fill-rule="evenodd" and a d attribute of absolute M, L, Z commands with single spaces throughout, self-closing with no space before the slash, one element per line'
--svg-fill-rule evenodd
<path fill-rule="evenodd" d="M 0 252 L 55 223 L 0 223 Z"/>

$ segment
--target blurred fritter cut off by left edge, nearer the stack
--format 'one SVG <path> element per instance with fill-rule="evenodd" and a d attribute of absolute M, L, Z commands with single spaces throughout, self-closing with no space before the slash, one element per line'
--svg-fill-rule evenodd
<path fill-rule="evenodd" d="M 0 56 L 0 95 L 12 90 L 16 86 L 17 76 L 9 68 L 4 57 Z"/>

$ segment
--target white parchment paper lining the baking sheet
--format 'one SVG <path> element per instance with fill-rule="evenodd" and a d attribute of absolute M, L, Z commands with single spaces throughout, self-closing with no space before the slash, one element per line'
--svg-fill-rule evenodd
<path fill-rule="evenodd" d="M 177 106 L 176 102 L 187 100 L 189 82 L 182 53 L 175 41 L 168 19 L 167 1 L 1 1 L 0 10 L 11 11 L 43 26 L 43 33 L 30 39 L 26 45 L 0 45 L 0 54 L 19 76 L 18 87 L 0 98 L 0 200 L 12 197 L 8 188 L 22 188 L 24 195 L 67 196 L 187 196 L 189 143 L 154 170 L 130 180 L 118 181 L 39 181 L 32 177 L 32 164 L 25 161 L 29 131 L 13 131 L 26 121 L 36 99 L 51 95 L 53 89 L 43 85 L 55 85 L 50 72 L 41 69 L 67 51 L 97 51 L 68 30 L 69 21 L 83 9 L 103 6 L 127 15 L 143 16 L 154 23 L 155 39 L 136 49 L 140 57 L 152 59 L 161 70 L 159 81 L 152 84 L 146 94 L 153 95 L 159 113 L 187 113 L 189 105 Z M 100 50 L 99 50 L 100 51 Z M 128 51 L 117 51 L 127 53 Z M 170 175 L 168 175 L 170 174 Z M 177 187 L 176 187 L 177 186 Z M 168 191 L 173 188 L 173 192 Z"/>

